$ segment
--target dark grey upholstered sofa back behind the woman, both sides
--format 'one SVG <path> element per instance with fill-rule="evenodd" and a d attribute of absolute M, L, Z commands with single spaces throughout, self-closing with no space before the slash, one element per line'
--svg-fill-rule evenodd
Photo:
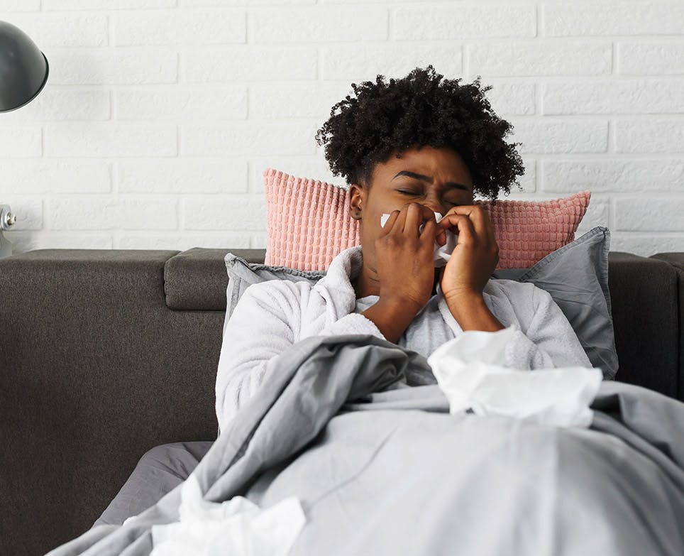
<path fill-rule="evenodd" d="M 227 251 L 0 259 L 0 555 L 83 533 L 148 449 L 214 439 Z M 684 253 L 612 252 L 609 288 L 617 378 L 684 400 Z"/>

